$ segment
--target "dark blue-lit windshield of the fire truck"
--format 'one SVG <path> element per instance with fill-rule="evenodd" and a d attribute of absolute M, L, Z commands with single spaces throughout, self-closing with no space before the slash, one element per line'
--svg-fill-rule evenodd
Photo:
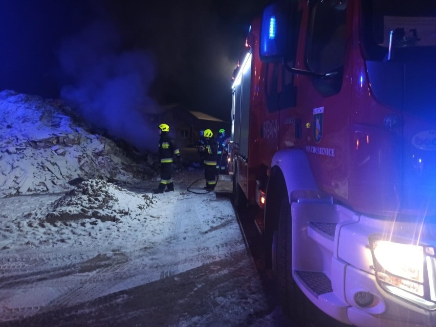
<path fill-rule="evenodd" d="M 362 1 L 362 52 L 382 104 L 436 122 L 436 1 Z"/>

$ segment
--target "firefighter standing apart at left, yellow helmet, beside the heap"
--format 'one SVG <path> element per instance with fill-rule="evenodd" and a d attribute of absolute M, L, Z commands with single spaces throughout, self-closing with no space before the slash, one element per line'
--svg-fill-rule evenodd
<path fill-rule="evenodd" d="M 174 183 L 171 179 L 172 158 L 176 156 L 177 162 L 180 162 L 180 151 L 176 141 L 168 135 L 169 126 L 167 124 L 159 125 L 159 160 L 161 167 L 161 181 L 154 193 L 163 193 L 174 191 Z M 166 187 L 166 190 L 165 190 Z"/>

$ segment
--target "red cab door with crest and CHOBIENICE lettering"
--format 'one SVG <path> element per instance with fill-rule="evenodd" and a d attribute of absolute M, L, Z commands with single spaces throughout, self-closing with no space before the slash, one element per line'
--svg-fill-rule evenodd
<path fill-rule="evenodd" d="M 351 2 L 309 2 L 301 69 L 333 75 L 299 75 L 297 107 L 303 117 L 301 146 L 318 186 L 348 198 L 348 152 L 351 112 Z M 301 43 L 300 43 L 301 44 Z"/>

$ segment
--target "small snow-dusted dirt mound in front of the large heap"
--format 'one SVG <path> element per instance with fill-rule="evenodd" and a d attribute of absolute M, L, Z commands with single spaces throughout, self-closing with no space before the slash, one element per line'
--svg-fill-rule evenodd
<path fill-rule="evenodd" d="M 56 200 L 46 220 L 55 223 L 95 218 L 122 222 L 123 219 L 144 217 L 146 209 L 156 201 L 153 195 L 139 195 L 101 179 L 90 179 Z"/>

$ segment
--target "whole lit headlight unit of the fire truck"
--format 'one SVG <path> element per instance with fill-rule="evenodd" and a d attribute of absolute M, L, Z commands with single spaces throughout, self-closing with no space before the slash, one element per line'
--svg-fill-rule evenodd
<path fill-rule="evenodd" d="M 436 258 L 432 247 L 369 238 L 378 284 L 427 309 L 436 309 Z"/>

